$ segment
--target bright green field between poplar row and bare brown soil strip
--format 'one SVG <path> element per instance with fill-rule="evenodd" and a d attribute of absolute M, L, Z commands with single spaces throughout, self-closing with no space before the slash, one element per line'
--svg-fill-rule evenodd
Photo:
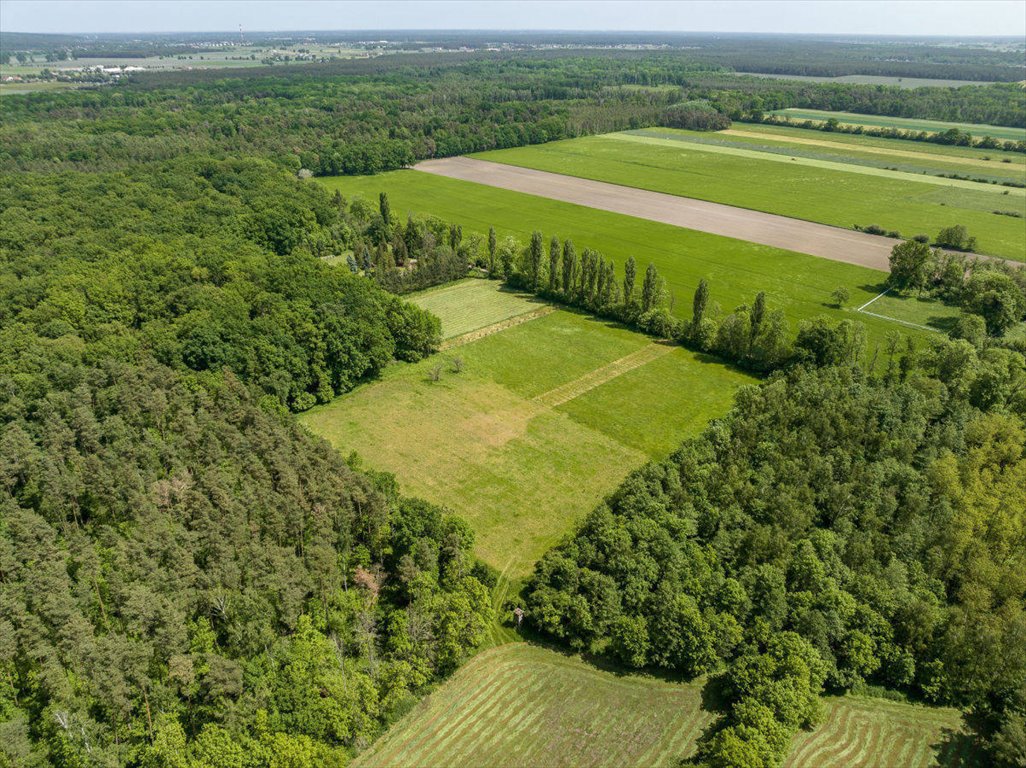
<path fill-rule="evenodd" d="M 521 242 L 532 230 L 569 238 L 579 251 L 594 248 L 613 257 L 621 275 L 624 261 L 634 255 L 642 270 L 649 262 L 657 267 L 676 297 L 674 315 L 685 319 L 690 318 L 690 297 L 703 278 L 709 281 L 712 300 L 727 312 L 765 291 L 771 309 L 783 310 L 792 328 L 799 320 L 820 315 L 852 318 L 852 312 L 833 308 L 830 293 L 844 286 L 851 306 L 859 307 L 883 290 L 886 278 L 877 270 L 418 171 L 317 181 L 373 200 L 387 192 L 393 210 L 432 213 L 463 225 L 465 232 L 484 234 L 494 226 L 501 238 L 512 235 Z M 865 323 L 871 345 L 882 345 L 892 330 L 933 335 L 865 315 L 855 317 Z"/>

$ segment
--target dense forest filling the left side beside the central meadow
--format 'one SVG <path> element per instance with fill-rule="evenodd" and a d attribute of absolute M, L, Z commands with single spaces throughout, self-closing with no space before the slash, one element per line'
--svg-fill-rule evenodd
<path fill-rule="evenodd" d="M 467 526 L 307 408 L 437 342 L 261 160 L 0 191 L 0 765 L 344 765 L 490 621 Z"/>

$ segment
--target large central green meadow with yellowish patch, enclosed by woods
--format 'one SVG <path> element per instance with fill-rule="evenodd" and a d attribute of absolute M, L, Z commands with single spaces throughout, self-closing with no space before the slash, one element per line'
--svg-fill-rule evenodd
<path fill-rule="evenodd" d="M 509 295 L 496 283 L 448 290 L 481 305 L 485 288 L 503 308 Z M 462 313 L 451 293 L 446 307 L 442 323 L 451 326 Z M 439 363 L 444 370 L 431 380 Z M 698 434 L 752 380 L 560 310 L 392 366 L 302 420 L 343 453 L 355 450 L 368 467 L 394 473 L 405 492 L 460 514 L 476 533 L 478 556 L 516 579 L 628 472 Z"/>

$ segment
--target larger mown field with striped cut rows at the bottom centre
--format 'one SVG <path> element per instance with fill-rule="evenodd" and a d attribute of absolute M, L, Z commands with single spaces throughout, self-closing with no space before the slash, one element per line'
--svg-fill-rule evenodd
<path fill-rule="evenodd" d="M 616 677 L 516 643 L 471 659 L 355 765 L 665 765 L 710 719 L 698 685 Z"/>

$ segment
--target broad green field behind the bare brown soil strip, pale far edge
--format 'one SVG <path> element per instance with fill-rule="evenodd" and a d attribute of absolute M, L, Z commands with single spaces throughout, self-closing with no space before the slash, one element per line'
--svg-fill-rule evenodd
<path fill-rule="evenodd" d="M 877 225 L 905 237 L 961 224 L 981 252 L 1026 260 L 1023 219 L 994 212 L 1026 215 L 1026 190 L 873 167 L 838 149 L 826 160 L 822 148 L 752 142 L 660 128 L 474 157 L 836 227 Z M 959 173 L 973 175 L 966 170 Z"/>

